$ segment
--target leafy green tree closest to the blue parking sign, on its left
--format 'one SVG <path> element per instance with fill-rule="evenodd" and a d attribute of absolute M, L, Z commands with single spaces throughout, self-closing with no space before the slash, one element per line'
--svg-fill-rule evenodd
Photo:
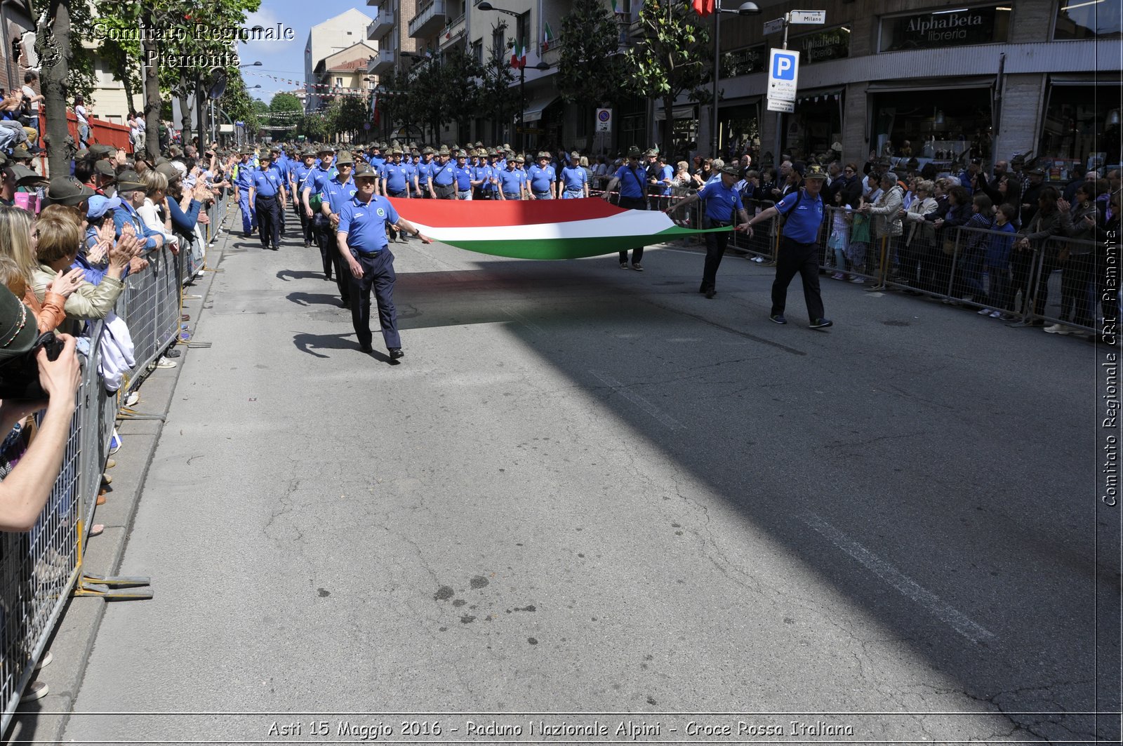
<path fill-rule="evenodd" d="M 661 149 L 670 152 L 672 111 L 683 94 L 705 100 L 710 33 L 686 0 L 648 0 L 639 11 L 640 38 L 624 54 L 629 88 L 659 99 L 667 112 Z"/>

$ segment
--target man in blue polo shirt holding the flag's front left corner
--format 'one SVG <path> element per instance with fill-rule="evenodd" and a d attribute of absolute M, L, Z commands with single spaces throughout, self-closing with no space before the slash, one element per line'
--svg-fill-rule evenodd
<path fill-rule="evenodd" d="M 344 258 L 350 280 L 351 324 L 358 346 L 364 353 L 371 347 L 371 289 L 378 304 L 382 338 L 390 352 L 390 360 L 404 357 L 398 334 L 398 313 L 394 310 L 394 255 L 386 244 L 386 228 L 413 234 L 421 243 L 432 243 L 422 236 L 413 224 L 398 215 L 384 197 L 374 193 L 376 174 L 369 165 L 360 163 L 355 170 L 355 197 L 339 210 L 336 227 L 336 247 Z"/>

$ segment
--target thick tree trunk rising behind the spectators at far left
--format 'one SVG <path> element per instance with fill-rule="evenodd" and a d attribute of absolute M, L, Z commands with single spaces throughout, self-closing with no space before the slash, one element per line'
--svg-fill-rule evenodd
<path fill-rule="evenodd" d="M 66 142 L 70 136 L 66 127 L 66 79 L 70 76 L 71 61 L 67 0 L 51 0 L 42 22 L 35 46 L 43 61 L 39 85 L 47 118 L 47 169 L 48 175 L 65 175 L 70 173 L 70 161 L 74 152 L 74 145 Z"/>

